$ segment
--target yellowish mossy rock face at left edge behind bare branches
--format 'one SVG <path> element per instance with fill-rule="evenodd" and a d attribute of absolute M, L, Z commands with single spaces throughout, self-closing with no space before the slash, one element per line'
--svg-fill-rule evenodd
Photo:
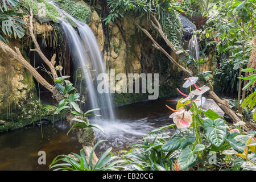
<path fill-rule="evenodd" d="M 26 36 L 23 39 L 10 39 L 7 45 L 18 47 L 23 57 L 30 62 L 24 49 L 28 39 L 28 16 L 23 17 Z M 40 37 L 53 30 L 48 24 L 36 22 L 36 34 Z M 44 107 L 40 104 L 36 94 L 34 79 L 18 61 L 11 58 L 9 53 L 0 49 L 0 125 L 6 122 L 18 122 L 23 119 L 36 121 L 38 115 L 52 114 L 52 106 Z M 31 121 L 32 121 L 31 120 Z M 22 126 L 22 123 L 19 123 Z M 10 126 L 12 127 L 12 126 Z M 18 125 L 15 127 L 19 127 Z M 6 128 L 9 129 L 9 126 Z"/>

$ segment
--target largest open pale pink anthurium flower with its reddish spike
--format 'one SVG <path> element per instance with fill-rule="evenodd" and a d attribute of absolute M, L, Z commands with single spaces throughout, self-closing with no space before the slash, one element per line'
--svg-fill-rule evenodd
<path fill-rule="evenodd" d="M 172 118 L 174 120 L 174 123 L 178 129 L 184 129 L 191 125 L 192 113 L 190 110 L 186 111 L 183 107 L 180 107 L 178 110 L 171 109 L 171 107 L 169 106 L 167 107 L 168 109 L 174 111 L 174 113 L 172 113 L 169 118 Z"/>

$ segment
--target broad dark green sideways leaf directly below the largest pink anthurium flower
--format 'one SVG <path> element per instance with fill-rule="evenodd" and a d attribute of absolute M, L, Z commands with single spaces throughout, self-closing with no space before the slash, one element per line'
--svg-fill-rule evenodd
<path fill-rule="evenodd" d="M 191 133 L 185 133 L 182 135 L 175 134 L 174 137 L 163 144 L 162 150 L 166 152 L 175 151 L 186 147 L 188 144 L 193 143 L 195 140 L 196 137 Z"/>

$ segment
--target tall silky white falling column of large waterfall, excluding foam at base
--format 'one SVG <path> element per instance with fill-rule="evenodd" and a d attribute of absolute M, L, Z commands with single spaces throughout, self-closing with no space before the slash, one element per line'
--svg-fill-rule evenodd
<path fill-rule="evenodd" d="M 53 3 L 51 4 L 55 6 Z M 96 113 L 99 114 L 100 112 L 102 118 L 113 121 L 114 111 L 111 95 L 107 93 L 100 94 L 97 92 L 97 76 L 100 73 L 106 73 L 106 71 L 96 37 L 86 23 L 73 18 L 64 10 L 59 9 L 59 7 L 55 6 L 55 8 L 60 14 L 64 14 L 71 18 L 79 31 L 78 34 L 70 23 L 63 18 L 58 18 L 60 26 L 63 28 L 65 36 L 67 37 L 72 59 L 80 65 L 82 72 L 85 75 L 84 81 L 88 90 L 87 100 L 89 100 L 90 109 L 100 108 L 101 111 L 96 111 Z M 95 72 L 88 71 L 88 69 L 86 69 L 86 65 L 89 65 L 89 67 L 94 69 Z M 107 81 L 106 85 L 109 85 Z"/>

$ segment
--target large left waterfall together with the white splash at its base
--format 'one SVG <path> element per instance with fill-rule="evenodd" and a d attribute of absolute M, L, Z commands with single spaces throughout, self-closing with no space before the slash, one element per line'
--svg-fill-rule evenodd
<path fill-rule="evenodd" d="M 58 18 L 59 23 L 64 30 L 65 36 L 67 37 L 68 45 L 71 49 L 72 60 L 76 61 L 77 64 L 80 64 L 80 67 L 85 75 L 90 108 L 100 108 L 101 115 L 104 118 L 100 119 L 97 117 L 90 119 L 90 122 L 97 123 L 105 130 L 105 134 L 102 134 L 101 131 L 96 129 L 96 140 L 109 140 L 108 143 L 102 143 L 100 148 L 106 148 L 109 146 L 127 147 L 134 141 L 141 140 L 142 135 L 147 135 L 151 130 L 154 129 L 152 123 L 148 122 L 151 121 L 151 116 L 140 119 L 134 119 L 133 115 L 129 115 L 129 119 L 115 118 L 110 94 L 99 94 L 97 92 L 97 75 L 100 73 L 105 73 L 105 65 L 101 57 L 100 49 L 98 48 L 97 39 L 92 30 L 90 30 L 90 27 L 87 24 L 73 18 L 73 16 L 57 7 L 53 2 L 48 2 L 51 3 L 60 14 L 68 16 L 68 18 L 70 18 L 77 26 L 79 34 L 75 28 L 73 28 L 71 24 L 67 22 L 67 20 L 64 18 Z M 90 67 L 96 71 L 88 71 L 88 69 L 86 69 L 86 65 L 90 65 Z M 105 84 L 109 85 L 109 83 Z M 154 117 L 154 114 L 152 117 Z"/>

